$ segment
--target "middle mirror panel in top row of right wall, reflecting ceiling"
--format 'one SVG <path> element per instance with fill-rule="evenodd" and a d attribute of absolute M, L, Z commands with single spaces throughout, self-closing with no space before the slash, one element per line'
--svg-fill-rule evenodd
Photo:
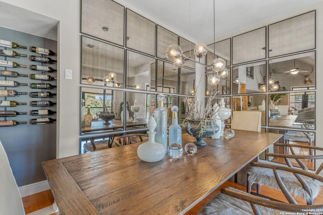
<path fill-rule="evenodd" d="M 266 27 L 232 38 L 232 63 L 238 64 L 266 57 Z"/>

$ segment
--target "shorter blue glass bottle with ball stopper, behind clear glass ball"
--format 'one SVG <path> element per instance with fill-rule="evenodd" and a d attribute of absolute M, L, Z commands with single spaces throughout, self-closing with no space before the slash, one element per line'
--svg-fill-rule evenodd
<path fill-rule="evenodd" d="M 173 106 L 172 110 L 172 125 L 170 126 L 169 132 L 169 144 L 179 144 L 182 146 L 182 128 L 178 124 L 178 107 Z"/>

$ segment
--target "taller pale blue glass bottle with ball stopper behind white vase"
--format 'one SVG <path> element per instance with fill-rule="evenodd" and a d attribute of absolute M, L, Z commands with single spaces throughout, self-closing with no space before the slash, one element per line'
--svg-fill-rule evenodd
<path fill-rule="evenodd" d="M 165 153 L 167 152 L 167 110 L 164 108 L 163 94 L 158 94 L 158 107 L 154 111 L 154 119 L 157 123 L 155 131 L 155 141 L 159 142 L 165 147 Z"/>

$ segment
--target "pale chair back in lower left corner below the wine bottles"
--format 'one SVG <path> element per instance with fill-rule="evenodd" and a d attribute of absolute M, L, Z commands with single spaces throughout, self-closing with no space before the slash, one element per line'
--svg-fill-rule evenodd
<path fill-rule="evenodd" d="M 19 188 L 0 141 L 0 214 L 25 214 Z"/>

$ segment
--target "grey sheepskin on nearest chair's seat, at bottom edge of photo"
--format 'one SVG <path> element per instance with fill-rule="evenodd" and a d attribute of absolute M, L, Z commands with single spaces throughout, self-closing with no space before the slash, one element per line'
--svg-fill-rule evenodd
<path fill-rule="evenodd" d="M 234 188 L 230 188 L 230 189 L 237 190 Z M 240 191 L 240 190 L 237 190 L 237 191 Z M 282 213 L 282 211 L 275 210 L 268 207 L 263 207 L 258 205 L 258 208 L 261 211 L 261 214 L 271 214 L 271 215 L 284 214 Z M 250 214 L 253 214 L 253 211 L 249 202 L 231 197 L 223 193 L 219 193 L 216 197 L 210 200 L 198 214 L 199 215 L 211 215 L 211 214 L 213 215 L 228 215 L 228 214 L 250 215 Z"/>

